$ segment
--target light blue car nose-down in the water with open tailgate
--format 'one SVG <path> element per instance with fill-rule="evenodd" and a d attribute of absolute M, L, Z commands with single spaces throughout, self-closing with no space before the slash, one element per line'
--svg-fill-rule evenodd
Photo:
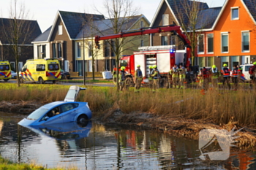
<path fill-rule="evenodd" d="M 87 102 L 78 102 L 75 99 L 78 96 L 80 88 L 71 86 L 67 92 L 64 101 L 54 101 L 50 104 L 45 104 L 39 109 L 36 109 L 28 117 L 20 120 L 19 125 L 50 125 L 53 123 L 68 123 L 77 122 L 80 124 L 86 123 L 91 119 L 91 110 Z"/>

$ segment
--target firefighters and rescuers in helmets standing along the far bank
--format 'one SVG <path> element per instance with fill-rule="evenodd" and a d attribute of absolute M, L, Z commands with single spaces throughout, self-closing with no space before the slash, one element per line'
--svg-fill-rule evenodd
<path fill-rule="evenodd" d="M 118 80 L 120 90 L 124 90 L 126 88 L 126 72 L 124 71 L 125 67 L 121 66 L 121 72 L 119 72 Z M 176 64 L 170 69 L 168 73 L 168 82 L 169 87 L 184 89 L 187 84 L 187 69 L 184 66 L 177 66 Z M 252 82 L 256 85 L 256 62 L 253 63 L 253 66 L 249 69 L 249 74 L 251 74 Z M 113 78 L 116 79 L 117 75 L 113 74 Z M 149 66 L 149 74 L 148 74 L 148 85 L 153 92 L 159 90 L 159 80 L 160 80 L 159 70 L 157 66 Z M 233 66 L 233 70 L 228 69 L 227 64 L 223 64 L 223 69 L 219 71 L 217 66 L 213 65 L 211 69 L 200 69 L 200 72 L 197 74 L 195 78 L 195 82 L 199 82 L 198 85 L 200 88 L 204 90 L 208 90 L 210 87 L 218 88 L 218 82 L 222 82 L 223 85 L 227 85 L 230 89 L 230 82 L 234 83 L 235 90 L 238 88 L 238 82 L 242 82 L 245 80 L 243 70 L 240 66 Z M 143 73 L 140 70 L 140 65 L 137 66 L 135 71 L 135 93 L 140 92 L 141 82 L 143 81 Z"/>

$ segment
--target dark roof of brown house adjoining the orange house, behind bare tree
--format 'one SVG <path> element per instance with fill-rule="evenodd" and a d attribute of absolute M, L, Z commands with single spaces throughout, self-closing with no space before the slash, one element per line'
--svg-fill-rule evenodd
<path fill-rule="evenodd" d="M 185 15 L 185 9 L 192 7 L 192 3 L 198 3 L 197 7 L 200 10 L 208 9 L 208 4 L 200 1 L 189 1 L 189 0 L 166 0 L 170 8 L 173 9 L 173 13 L 176 16 L 178 23 L 184 23 L 185 26 L 189 27 L 189 18 Z M 178 17 L 182 15 L 182 17 Z M 181 22 L 182 20 L 182 22 Z"/>

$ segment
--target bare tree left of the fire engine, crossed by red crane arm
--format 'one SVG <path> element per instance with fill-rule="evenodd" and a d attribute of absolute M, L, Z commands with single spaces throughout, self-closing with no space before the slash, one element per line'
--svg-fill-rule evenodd
<path fill-rule="evenodd" d="M 104 20 L 102 20 L 102 25 L 105 27 L 104 30 L 99 29 L 97 26 L 94 27 L 100 35 L 118 34 L 121 31 L 127 30 L 130 27 L 129 21 L 133 19 L 133 16 L 138 15 L 139 11 L 139 8 L 133 7 L 132 0 L 105 0 L 104 8 L 108 12 L 107 18 L 109 19 L 109 22 L 104 22 Z M 97 11 L 102 14 L 98 9 Z M 121 53 L 123 53 L 124 50 L 127 50 L 125 48 L 127 41 L 125 38 L 119 38 L 113 39 L 113 42 L 114 43 L 112 44 L 111 41 L 108 41 L 111 50 L 113 50 L 113 53 L 116 55 L 116 66 L 118 68 Z M 118 69 L 117 74 L 119 74 Z M 119 90 L 118 83 L 117 90 Z"/>

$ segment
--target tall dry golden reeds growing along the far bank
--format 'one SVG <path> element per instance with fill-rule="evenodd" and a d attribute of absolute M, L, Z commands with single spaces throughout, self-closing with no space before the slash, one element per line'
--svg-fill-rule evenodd
<path fill-rule="evenodd" d="M 35 101 L 46 103 L 63 100 L 67 85 L 0 85 L 0 101 Z M 168 117 L 184 117 L 208 120 L 213 123 L 228 123 L 230 120 L 240 125 L 256 125 L 256 91 L 238 89 L 208 90 L 205 95 L 200 90 L 160 89 L 152 93 L 143 88 L 140 93 L 133 89 L 116 93 L 115 88 L 88 87 L 80 92 L 78 101 L 89 102 L 93 112 L 104 114 L 108 109 L 121 109 L 124 113 L 148 112 Z"/>

